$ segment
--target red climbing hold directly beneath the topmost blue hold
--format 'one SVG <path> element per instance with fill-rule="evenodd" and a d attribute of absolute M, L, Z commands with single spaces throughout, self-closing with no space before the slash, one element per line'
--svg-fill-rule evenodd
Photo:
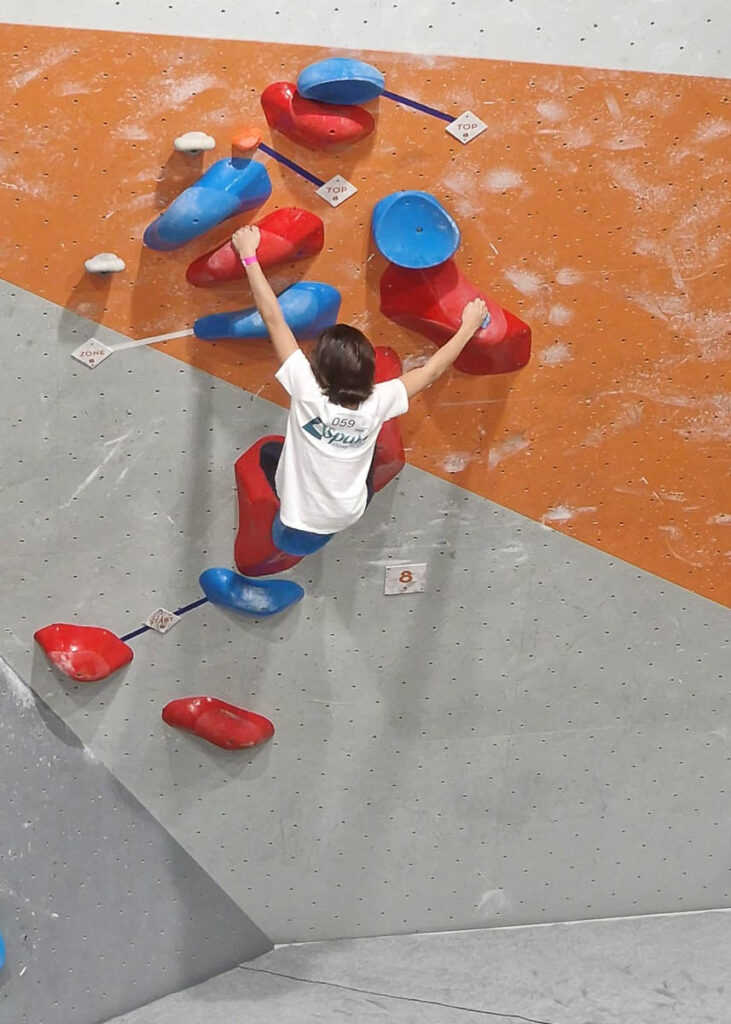
<path fill-rule="evenodd" d="M 261 105 L 270 128 L 309 150 L 327 150 L 343 142 L 357 142 L 376 127 L 362 106 L 339 106 L 305 99 L 294 82 L 274 82 L 261 94 Z"/>

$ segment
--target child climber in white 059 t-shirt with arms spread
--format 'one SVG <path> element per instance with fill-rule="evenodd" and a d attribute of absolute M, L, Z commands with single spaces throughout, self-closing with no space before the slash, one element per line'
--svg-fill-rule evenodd
<path fill-rule="evenodd" d="M 291 399 L 284 445 L 265 444 L 261 452 L 262 469 L 280 499 L 272 539 L 284 551 L 307 554 L 363 514 L 373 496 L 381 426 L 405 413 L 410 398 L 451 366 L 487 307 L 481 299 L 469 302 L 458 332 L 424 366 L 375 384 L 373 346 L 347 324 L 326 328 L 308 359 L 257 261 L 259 228 L 241 227 L 232 242 L 280 361 L 275 377 Z"/>

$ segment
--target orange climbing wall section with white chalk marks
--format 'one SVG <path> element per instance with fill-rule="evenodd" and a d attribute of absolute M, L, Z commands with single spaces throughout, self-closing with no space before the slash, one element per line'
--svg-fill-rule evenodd
<path fill-rule="evenodd" d="M 246 289 L 186 285 L 211 232 L 141 248 L 149 220 L 231 132 L 264 128 L 262 89 L 329 55 L 311 47 L 3 27 L 9 96 L 0 169 L 0 273 L 132 338 L 248 304 Z M 273 196 L 326 221 L 326 251 L 284 268 L 343 293 L 343 318 L 404 358 L 431 351 L 378 312 L 374 203 L 433 190 L 463 228 L 464 268 L 533 329 L 517 375 L 451 374 L 404 422 L 410 461 L 698 594 L 731 597 L 728 83 L 487 60 L 363 54 L 390 89 L 488 131 L 463 147 L 443 123 L 382 99 L 375 137 L 340 156 L 265 139 L 358 194 L 332 210 L 268 158 Z M 218 140 L 198 165 L 172 139 Z M 85 276 L 113 250 L 128 268 Z M 7 342 L 6 342 L 7 343 Z M 185 339 L 165 351 L 283 402 L 265 343 Z M 126 358 L 133 358 L 129 353 Z M 121 357 L 120 357 L 121 358 Z M 71 367 L 71 361 L 70 361 Z M 71 385 L 70 385 L 71 386 Z"/>

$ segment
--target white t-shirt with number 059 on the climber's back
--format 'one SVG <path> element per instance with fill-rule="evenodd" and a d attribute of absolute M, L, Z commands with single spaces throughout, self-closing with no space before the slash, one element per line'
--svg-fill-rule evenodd
<path fill-rule="evenodd" d="M 336 534 L 360 518 L 378 432 L 408 409 L 400 380 L 376 384 L 357 409 L 330 401 L 302 349 L 280 367 L 290 395 L 285 446 L 276 469 L 280 518 L 310 534 Z"/>

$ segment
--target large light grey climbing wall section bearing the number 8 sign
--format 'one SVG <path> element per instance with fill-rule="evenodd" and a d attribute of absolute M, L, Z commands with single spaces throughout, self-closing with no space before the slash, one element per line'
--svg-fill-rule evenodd
<path fill-rule="evenodd" d="M 204 606 L 119 677 L 58 678 L 39 625 L 123 633 L 230 564 L 232 463 L 284 413 L 157 351 L 87 371 L 87 323 L 7 287 L 3 308 L 7 657 L 272 939 L 728 903 L 725 609 L 428 474 L 302 563 L 284 617 Z M 383 596 L 399 561 L 429 563 L 426 594 Z M 190 693 L 273 741 L 163 726 Z"/>

